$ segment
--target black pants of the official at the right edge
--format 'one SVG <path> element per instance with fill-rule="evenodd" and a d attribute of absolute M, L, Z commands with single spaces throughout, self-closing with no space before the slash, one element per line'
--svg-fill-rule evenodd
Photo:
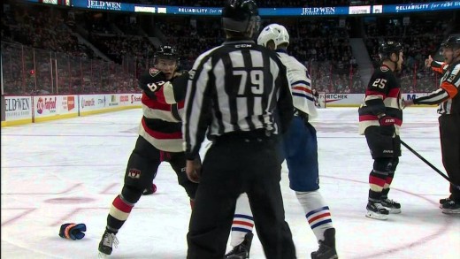
<path fill-rule="evenodd" d="M 440 138 L 442 164 L 449 179 L 460 186 L 460 114 L 441 115 Z M 460 190 L 450 185 L 450 198 L 460 202 Z"/>

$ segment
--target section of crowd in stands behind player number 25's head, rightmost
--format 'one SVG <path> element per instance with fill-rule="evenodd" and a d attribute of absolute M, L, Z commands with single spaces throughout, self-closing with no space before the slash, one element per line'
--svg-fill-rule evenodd
<path fill-rule="evenodd" d="M 372 59 L 378 60 L 378 49 L 383 38 L 401 42 L 405 59 L 401 73 L 403 90 L 409 93 L 429 92 L 433 86 L 436 87 L 439 78 L 425 67 L 425 59 L 437 53 L 441 42 L 453 31 L 453 25 L 451 17 L 406 18 L 405 24 L 404 19 L 372 19 L 364 26 L 366 47 Z"/>

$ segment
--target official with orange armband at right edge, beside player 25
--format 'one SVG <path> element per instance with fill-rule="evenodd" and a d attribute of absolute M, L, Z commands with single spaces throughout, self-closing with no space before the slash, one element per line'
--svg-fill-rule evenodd
<path fill-rule="evenodd" d="M 441 44 L 441 55 L 444 63 L 427 59 L 427 66 L 441 72 L 440 88 L 429 95 L 421 96 L 404 102 L 412 104 L 439 104 L 438 118 L 440 123 L 440 139 L 442 164 L 449 179 L 460 186 L 460 36 L 451 36 Z M 440 200 L 442 213 L 460 214 L 460 190 L 450 186 L 448 198 Z"/>

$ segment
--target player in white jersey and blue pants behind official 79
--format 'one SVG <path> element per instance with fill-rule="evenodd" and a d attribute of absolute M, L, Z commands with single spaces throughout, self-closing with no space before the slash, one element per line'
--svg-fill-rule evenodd
<path fill-rule="evenodd" d="M 311 258 L 338 258 L 331 212 L 319 193 L 318 141 L 316 130 L 309 123 L 309 118 L 317 116 L 310 76 L 304 65 L 288 55 L 289 34 L 285 27 L 279 24 L 265 27 L 257 44 L 275 50 L 288 69 L 295 118 L 283 135 L 281 148 L 288 164 L 289 187 L 295 191 L 319 243 L 318 251 L 312 252 Z M 249 258 L 253 227 L 248 197 L 242 194 L 236 204 L 232 225 L 231 245 L 234 249 L 225 258 Z"/>

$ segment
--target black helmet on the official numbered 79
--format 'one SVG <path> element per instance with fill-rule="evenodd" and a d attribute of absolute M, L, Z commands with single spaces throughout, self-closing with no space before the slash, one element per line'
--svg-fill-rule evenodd
<path fill-rule="evenodd" d="M 227 31 L 237 33 L 258 33 L 260 17 L 257 4 L 253 0 L 228 0 L 222 9 L 222 26 Z"/>

